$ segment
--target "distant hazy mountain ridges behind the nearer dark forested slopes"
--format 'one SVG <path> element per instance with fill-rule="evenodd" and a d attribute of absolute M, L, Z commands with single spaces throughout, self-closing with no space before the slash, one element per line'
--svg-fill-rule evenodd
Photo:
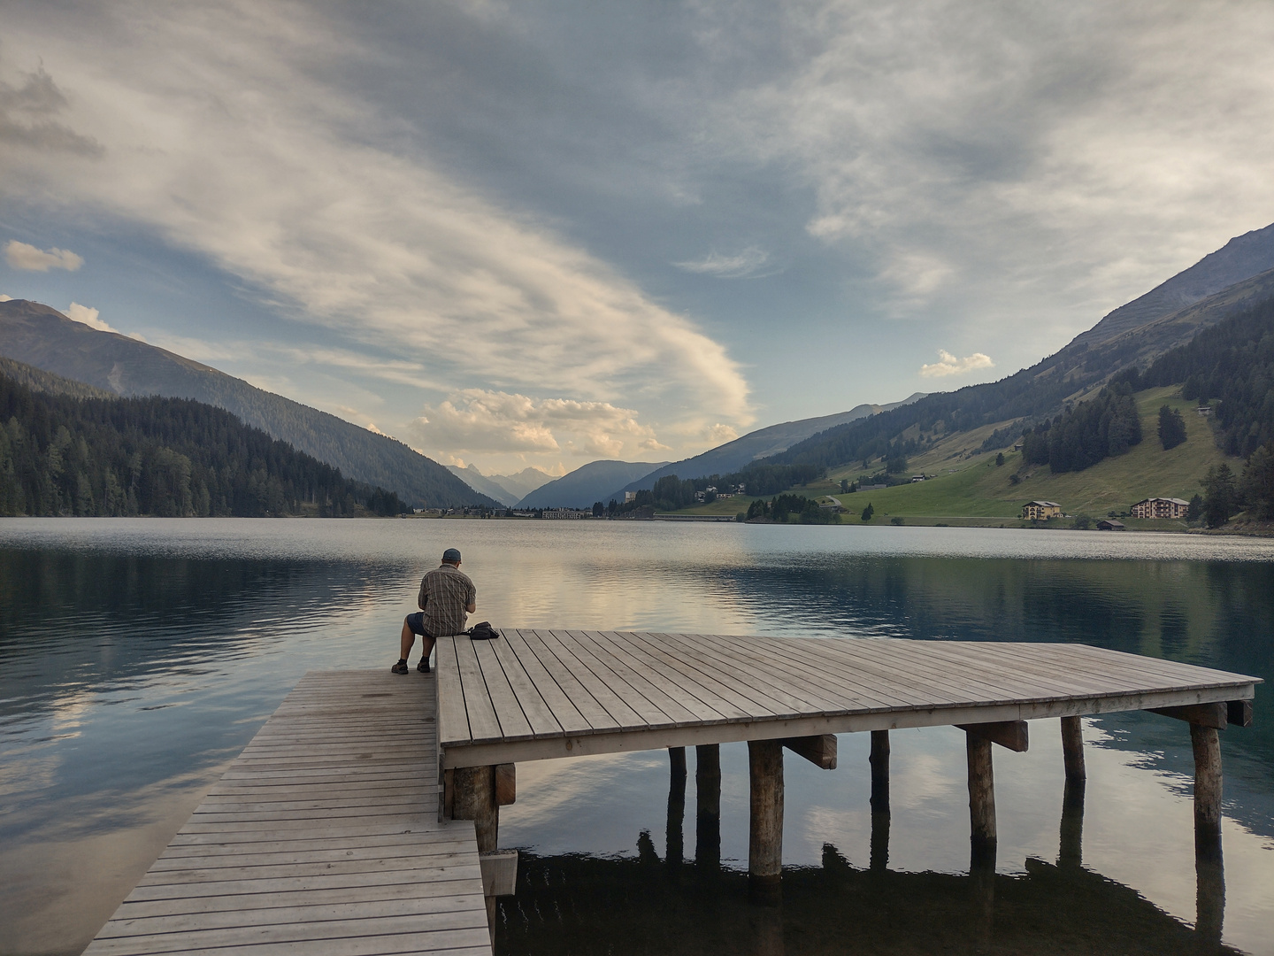
<path fill-rule="evenodd" d="M 83 384 L 83 398 L 153 394 L 218 405 L 345 477 L 395 491 L 417 507 L 589 507 L 622 501 L 624 492 L 650 488 L 668 474 L 703 478 L 752 463 L 832 465 L 910 454 L 905 447 L 926 431 L 931 440 L 995 426 L 986 441 L 1009 442 L 1024 424 L 1057 414 L 1119 372 L 1145 368 L 1199 330 L 1271 297 L 1274 224 L 1231 240 L 1112 310 L 1055 354 L 999 381 L 768 426 L 675 463 L 591 461 L 557 479 L 535 468 L 483 475 L 473 465 L 443 467 L 394 438 L 166 349 L 90 329 L 37 302 L 0 302 L 0 356 Z M 36 381 L 33 370 L 17 373 L 29 387 L 54 390 Z"/>

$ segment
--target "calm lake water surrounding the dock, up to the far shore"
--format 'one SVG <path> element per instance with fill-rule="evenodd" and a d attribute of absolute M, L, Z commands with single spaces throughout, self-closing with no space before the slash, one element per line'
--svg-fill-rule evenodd
<path fill-rule="evenodd" d="M 4 519 L 0 952 L 78 953 L 301 674 L 394 663 L 419 577 L 451 546 L 497 626 L 1084 641 L 1274 677 L 1274 542 L 1254 539 Z M 1252 953 L 1274 953 L 1270 693 L 1222 735 L 1223 939 Z M 1059 865 L 1056 721 L 1031 734 L 1029 752 L 995 755 L 990 885 L 968 873 L 961 732 L 892 734 L 874 869 L 866 735 L 841 737 L 834 771 L 790 757 L 778 910 L 747 904 L 744 746 L 721 750 L 721 872 L 694 864 L 693 751 L 684 858 L 666 753 L 520 765 L 499 840 L 522 865 L 497 952 L 1199 951 L 1186 725 L 1084 721 L 1082 865 Z"/>

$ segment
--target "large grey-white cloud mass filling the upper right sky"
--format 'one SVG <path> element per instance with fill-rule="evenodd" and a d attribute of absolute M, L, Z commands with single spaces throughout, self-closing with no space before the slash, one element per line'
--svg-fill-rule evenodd
<path fill-rule="evenodd" d="M 902 310 L 1020 330 L 1029 303 L 1061 344 L 1274 219 L 1271 5 L 782 10 L 777 61 L 687 124 L 804 180 L 808 232 Z M 727 61 L 754 27 L 699 38 Z"/>

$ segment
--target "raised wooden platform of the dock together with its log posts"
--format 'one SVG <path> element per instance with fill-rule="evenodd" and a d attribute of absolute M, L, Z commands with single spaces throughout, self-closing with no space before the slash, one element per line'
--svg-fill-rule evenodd
<path fill-rule="evenodd" d="M 708 767 L 697 781 L 698 816 L 713 821 L 719 747 L 747 741 L 748 868 L 766 892 L 777 888 L 782 869 L 785 748 L 833 769 L 836 734 L 870 732 L 875 823 L 889 812 L 889 730 L 962 728 L 971 867 L 994 869 L 991 746 L 1024 751 L 1028 720 L 1060 719 L 1066 799 L 1082 806 L 1079 719 L 1127 710 L 1190 725 L 1195 848 L 1200 859 L 1219 859 L 1218 732 L 1251 721 L 1260 682 L 1078 644 L 510 628 L 493 641 L 445 637 L 437 653 L 438 815 L 474 820 L 479 848 L 496 849 L 499 794 L 512 789 L 519 761 L 669 748 L 675 804 L 684 793 L 684 748 L 694 746 L 697 766 Z"/>

